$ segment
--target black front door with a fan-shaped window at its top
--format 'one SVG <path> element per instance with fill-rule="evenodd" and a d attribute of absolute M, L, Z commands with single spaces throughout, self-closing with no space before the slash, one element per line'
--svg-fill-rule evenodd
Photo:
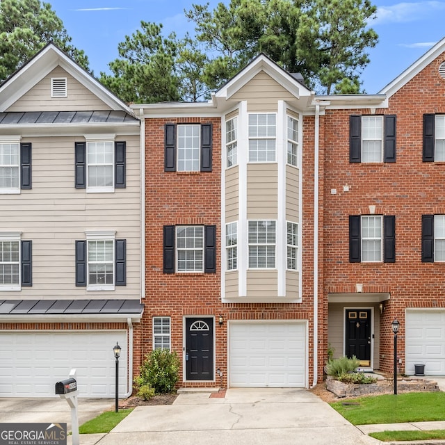
<path fill-rule="evenodd" d="M 213 380 L 213 318 L 186 318 L 186 379 Z"/>

